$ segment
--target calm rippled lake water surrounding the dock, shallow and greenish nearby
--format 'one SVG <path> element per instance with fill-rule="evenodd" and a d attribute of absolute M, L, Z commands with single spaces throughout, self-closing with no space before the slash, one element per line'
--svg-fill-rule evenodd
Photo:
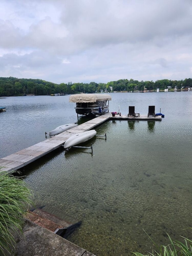
<path fill-rule="evenodd" d="M 26 168 L 35 203 L 82 221 L 69 240 L 96 255 L 151 251 L 153 242 L 191 238 L 192 92 L 112 93 L 110 112 L 165 115 L 162 121 L 111 120 L 89 149 L 63 149 Z M 45 140 L 45 131 L 77 120 L 69 95 L 0 99 L 0 158 Z M 149 237 L 146 235 L 146 233 Z"/>

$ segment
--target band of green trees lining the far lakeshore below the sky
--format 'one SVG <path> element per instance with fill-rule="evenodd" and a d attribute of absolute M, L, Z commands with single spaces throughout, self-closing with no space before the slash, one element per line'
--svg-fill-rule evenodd
<path fill-rule="evenodd" d="M 159 88 L 164 90 L 167 86 L 171 88 L 181 89 L 183 87 L 192 87 L 192 78 L 186 78 L 185 80 L 157 80 L 153 81 L 138 81 L 133 79 L 120 79 L 117 81 L 111 81 L 108 83 L 51 83 L 41 79 L 26 79 L 15 77 L 0 77 L 0 97 L 3 96 L 22 96 L 23 94 L 34 95 L 50 95 L 55 93 L 74 94 L 74 93 L 94 93 L 101 92 L 101 90 L 107 89 L 111 92 L 110 87 L 113 87 L 113 91 L 144 91 L 144 89 L 153 91 Z"/>

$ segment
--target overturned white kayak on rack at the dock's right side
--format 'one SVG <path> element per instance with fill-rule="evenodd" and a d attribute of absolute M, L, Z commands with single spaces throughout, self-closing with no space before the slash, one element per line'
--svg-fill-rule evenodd
<path fill-rule="evenodd" d="M 93 138 L 95 136 L 96 133 L 97 132 L 95 130 L 83 131 L 83 132 L 76 133 L 65 141 L 64 149 L 68 149 L 68 148 L 75 146 L 79 143 L 90 140 L 91 138 Z"/>

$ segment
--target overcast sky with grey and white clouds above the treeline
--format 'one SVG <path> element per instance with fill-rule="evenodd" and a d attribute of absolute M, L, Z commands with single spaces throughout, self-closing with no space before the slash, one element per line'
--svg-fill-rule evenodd
<path fill-rule="evenodd" d="M 192 2 L 1 0 L 0 77 L 192 78 Z"/>

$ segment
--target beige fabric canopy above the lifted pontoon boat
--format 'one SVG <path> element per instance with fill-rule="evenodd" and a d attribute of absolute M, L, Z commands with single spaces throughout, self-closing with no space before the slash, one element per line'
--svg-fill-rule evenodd
<path fill-rule="evenodd" d="M 111 101 L 111 96 L 107 94 L 73 94 L 69 97 L 69 102 L 96 102 L 96 101 Z"/>

